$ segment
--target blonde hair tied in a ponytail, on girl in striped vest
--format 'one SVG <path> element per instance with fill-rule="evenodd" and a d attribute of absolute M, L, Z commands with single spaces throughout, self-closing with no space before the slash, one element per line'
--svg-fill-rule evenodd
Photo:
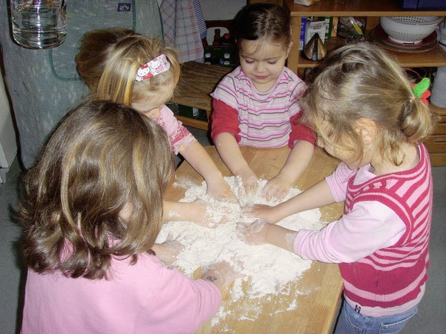
<path fill-rule="evenodd" d="M 355 121 L 373 120 L 378 148 L 395 166 L 402 162 L 402 143 L 416 144 L 431 134 L 434 118 L 429 106 L 415 98 L 401 65 L 369 42 L 332 51 L 314 70 L 300 101 L 302 122 L 333 148 L 361 159 L 364 152 Z"/>

